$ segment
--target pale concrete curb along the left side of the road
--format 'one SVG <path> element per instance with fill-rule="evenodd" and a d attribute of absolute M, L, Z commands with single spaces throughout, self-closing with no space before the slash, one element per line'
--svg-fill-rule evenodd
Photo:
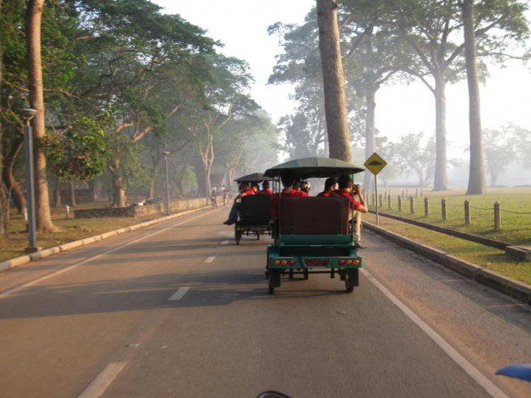
<path fill-rule="evenodd" d="M 115 229 L 113 231 L 104 232 L 103 234 L 94 235 L 93 237 L 80 239 L 78 241 L 71 241 L 71 242 L 62 244 L 60 246 L 54 246 L 54 247 L 50 247 L 48 249 L 35 251 L 35 253 L 29 254 L 29 255 L 24 255 L 24 256 L 18 256 L 18 257 L 15 257 L 15 258 L 10 258 L 9 260 L 0 262 L 0 272 L 9 271 L 12 268 L 23 266 L 23 265 L 25 265 L 27 263 L 30 263 L 31 261 L 37 261 L 37 260 L 40 260 L 40 258 L 50 257 L 50 256 L 53 256 L 55 254 L 62 253 L 63 251 L 69 251 L 69 250 L 75 249 L 76 247 L 79 247 L 79 246 L 85 246 L 86 244 L 91 244 L 91 243 L 94 243 L 96 241 L 101 241 L 103 239 L 114 237 L 115 235 L 118 235 L 118 234 L 123 234 L 125 232 L 134 231 L 135 229 L 148 227 L 149 225 L 156 224 L 158 222 L 172 220 L 173 218 L 182 217 L 183 215 L 189 215 L 189 214 L 192 214 L 194 212 L 198 212 L 200 210 L 205 210 L 205 209 L 210 209 L 210 208 L 212 208 L 212 206 L 208 205 L 208 206 L 204 206 L 204 207 L 199 207 L 198 209 L 186 210 L 185 212 L 180 212 L 180 213 L 177 213 L 177 214 L 174 214 L 174 215 L 167 215 L 165 217 L 156 218 L 155 220 L 146 221 L 146 222 L 142 222 L 140 224 L 131 225 L 130 227 Z"/>

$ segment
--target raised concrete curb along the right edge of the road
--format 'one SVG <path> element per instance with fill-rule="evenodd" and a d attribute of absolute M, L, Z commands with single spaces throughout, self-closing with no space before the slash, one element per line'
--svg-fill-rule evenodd
<path fill-rule="evenodd" d="M 461 258 L 457 258 L 452 254 L 447 254 L 444 251 L 440 251 L 426 244 L 419 244 L 412 239 L 396 234 L 396 232 L 377 227 L 371 222 L 364 221 L 363 227 L 399 244 L 400 246 L 406 247 L 406 249 L 415 251 L 416 253 L 421 254 L 421 256 L 425 256 L 442 266 L 450 268 L 452 271 L 460 273 L 467 278 L 474 279 L 479 283 L 489 286 L 489 288 L 493 288 L 509 295 L 510 297 L 531 304 L 531 285 L 527 285 L 527 283 L 507 278 L 499 273 L 490 271 L 481 266 L 476 266 L 474 263 L 469 263 L 469 261 L 464 261 Z"/>

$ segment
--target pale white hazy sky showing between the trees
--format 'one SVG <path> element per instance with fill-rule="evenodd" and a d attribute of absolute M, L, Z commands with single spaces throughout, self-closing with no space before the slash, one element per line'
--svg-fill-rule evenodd
<path fill-rule="evenodd" d="M 245 59 L 251 65 L 256 83 L 253 98 L 270 113 L 273 121 L 294 107 L 287 96 L 292 87 L 266 86 L 282 52 L 277 38 L 267 34 L 269 25 L 302 23 L 315 0 L 153 0 L 167 13 L 179 13 L 190 23 L 220 40 L 226 55 Z M 531 74 L 518 62 L 507 69 L 491 67 L 491 77 L 481 87 L 482 123 L 486 128 L 513 122 L 531 129 Z M 435 130 L 433 95 L 421 83 L 384 87 L 377 94 L 377 128 L 396 140 L 407 132 Z M 447 86 L 447 140 L 450 157 L 464 157 L 460 148 L 468 145 L 468 94 L 466 82 Z M 458 149 L 452 149 L 458 148 Z"/>

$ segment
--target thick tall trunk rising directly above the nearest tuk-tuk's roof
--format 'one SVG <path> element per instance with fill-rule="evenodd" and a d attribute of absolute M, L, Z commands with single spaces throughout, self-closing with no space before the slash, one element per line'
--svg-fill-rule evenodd
<path fill-rule="evenodd" d="M 336 0 L 317 0 L 319 51 L 323 67 L 324 110 L 329 136 L 329 156 L 350 162 L 345 76 L 339 45 L 338 4 Z"/>

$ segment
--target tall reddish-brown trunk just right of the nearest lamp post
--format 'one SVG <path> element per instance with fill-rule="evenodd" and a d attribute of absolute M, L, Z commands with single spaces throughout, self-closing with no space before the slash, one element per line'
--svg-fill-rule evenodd
<path fill-rule="evenodd" d="M 31 120 L 35 140 L 35 212 L 38 232 L 55 231 L 50 215 L 48 183 L 46 176 L 46 157 L 40 146 L 40 138 L 45 136 L 45 107 L 42 87 L 42 64 L 40 58 L 40 23 L 44 0 L 28 0 L 25 14 L 26 45 L 28 47 L 28 74 L 30 106 L 37 110 Z"/>

